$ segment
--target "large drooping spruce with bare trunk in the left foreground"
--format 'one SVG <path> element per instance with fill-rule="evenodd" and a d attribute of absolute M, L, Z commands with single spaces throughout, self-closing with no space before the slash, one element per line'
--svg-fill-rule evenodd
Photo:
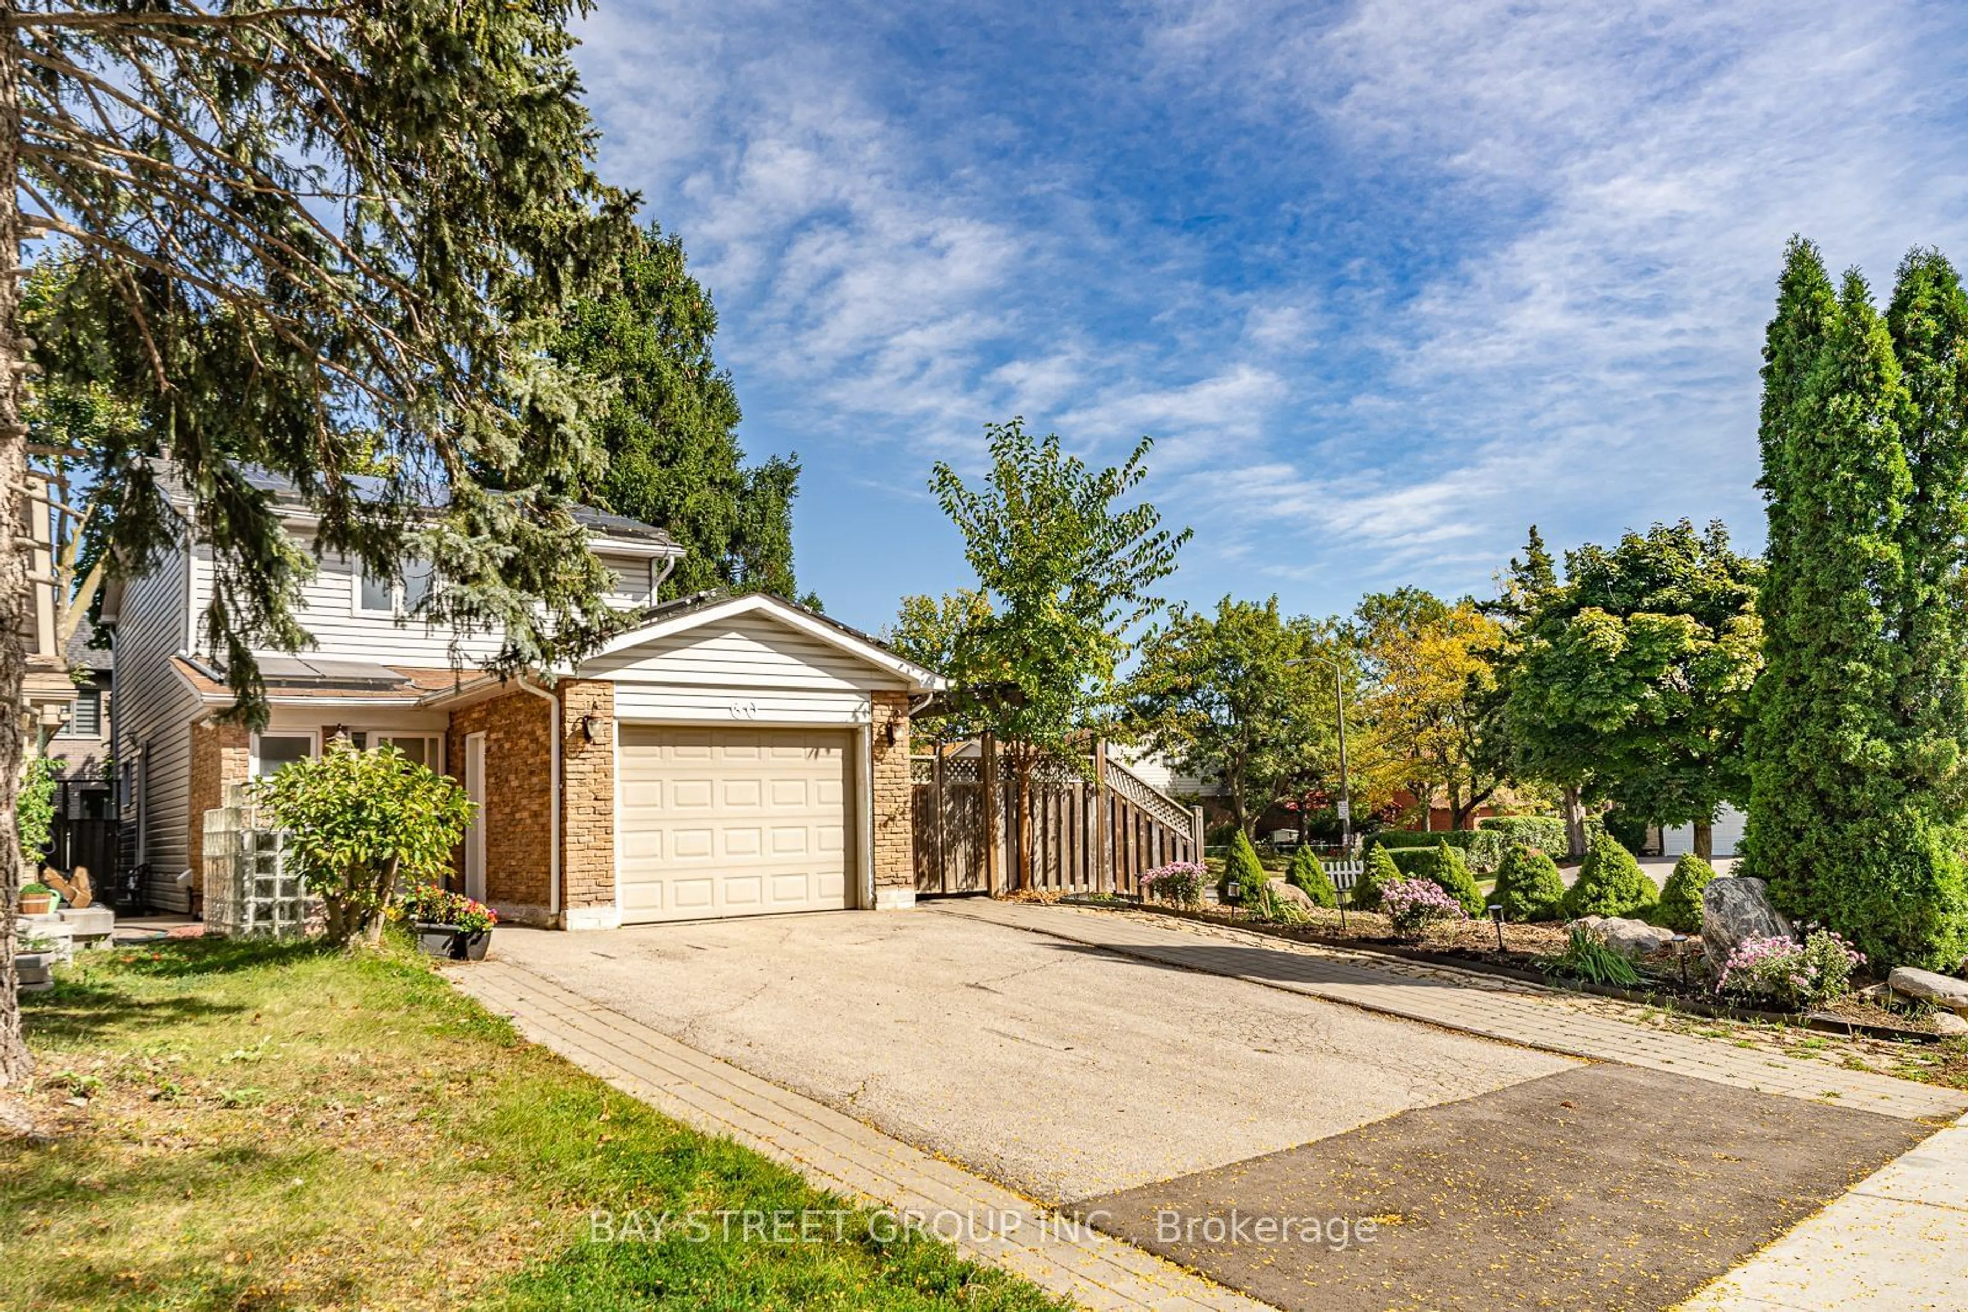
<path fill-rule="evenodd" d="M 437 567 L 423 614 L 504 635 L 504 671 L 620 622 L 569 492 L 596 393 L 543 350 L 634 232 L 592 169 L 567 31 L 583 0 L 16 0 L 0 22 L 0 486 L 30 454 L 24 382 L 102 382 L 138 419 L 59 452 L 140 570 L 215 559 L 201 647 L 264 720 L 254 649 L 295 649 L 317 551 Z M 63 317 L 24 332 L 22 271 L 61 242 Z M 79 350 L 87 346 L 87 350 Z M 81 378 L 71 370 L 81 370 Z M 37 454 L 51 454 L 47 448 Z M 165 496 L 175 480 L 183 500 Z M 376 478 L 382 474 L 382 478 Z M 39 506 L 0 513 L 0 702 L 20 704 Z M 0 832 L 22 722 L 0 716 Z M 0 862 L 0 1086 L 28 1074 L 18 869 Z"/>

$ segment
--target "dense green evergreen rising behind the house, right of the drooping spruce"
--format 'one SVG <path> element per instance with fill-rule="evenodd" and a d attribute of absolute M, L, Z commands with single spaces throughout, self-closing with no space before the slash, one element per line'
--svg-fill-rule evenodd
<path fill-rule="evenodd" d="M 683 242 L 651 224 L 618 273 L 553 340 L 557 360 L 614 389 L 600 423 L 608 470 L 588 498 L 683 543 L 667 596 L 716 586 L 793 596 L 799 460 L 746 468 L 738 391 L 710 352 L 718 313 L 685 268 Z"/>

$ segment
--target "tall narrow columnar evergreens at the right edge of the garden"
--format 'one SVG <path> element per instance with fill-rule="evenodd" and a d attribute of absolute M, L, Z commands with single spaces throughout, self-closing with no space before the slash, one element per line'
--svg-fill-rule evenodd
<path fill-rule="evenodd" d="M 1944 454 L 1960 391 L 1909 352 L 1927 403 L 1956 407 L 1923 417 L 1901 354 L 1958 352 L 1927 327 L 1948 287 L 1929 256 L 1903 266 L 1895 342 L 1856 271 L 1834 291 L 1816 248 L 1789 246 L 1763 352 L 1767 669 L 1744 865 L 1876 960 L 1933 966 L 1968 946 L 1962 728 L 1942 712 L 1958 706 L 1960 541 L 1938 527 L 1962 496 Z"/>

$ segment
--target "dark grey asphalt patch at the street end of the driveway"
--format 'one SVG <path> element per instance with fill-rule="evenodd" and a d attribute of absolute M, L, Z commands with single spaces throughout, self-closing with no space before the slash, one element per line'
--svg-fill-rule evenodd
<path fill-rule="evenodd" d="M 1671 1308 L 1927 1133 L 1594 1064 L 1073 1210 L 1279 1308 Z"/>

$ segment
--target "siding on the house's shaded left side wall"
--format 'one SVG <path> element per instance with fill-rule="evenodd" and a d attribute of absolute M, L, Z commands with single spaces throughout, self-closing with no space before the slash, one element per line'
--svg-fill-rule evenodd
<path fill-rule="evenodd" d="M 185 816 L 191 791 L 191 720 L 199 698 L 171 669 L 185 645 L 185 557 L 169 555 L 124 588 L 116 627 L 118 759 L 142 759 L 144 834 L 142 860 L 150 864 L 148 901 L 169 911 L 189 911 L 191 899 L 175 877 L 191 865 Z M 124 858 L 138 860 L 136 795 L 124 799 L 130 824 Z"/>

